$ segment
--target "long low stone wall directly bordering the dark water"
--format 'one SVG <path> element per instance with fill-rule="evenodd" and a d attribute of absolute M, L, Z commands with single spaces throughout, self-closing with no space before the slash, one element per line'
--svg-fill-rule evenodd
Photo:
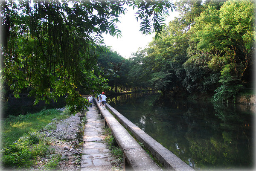
<path fill-rule="evenodd" d="M 108 109 L 116 116 L 119 122 L 122 123 L 131 133 L 136 137 L 138 141 L 143 143 L 146 148 L 151 152 L 151 154 L 156 157 L 168 170 L 175 171 L 194 171 L 189 165 L 183 162 L 179 157 L 169 151 L 167 148 L 163 147 L 159 142 L 154 140 L 151 136 L 137 127 L 130 120 L 125 118 L 121 113 L 116 109 L 111 107 L 111 105 L 106 104 Z"/>

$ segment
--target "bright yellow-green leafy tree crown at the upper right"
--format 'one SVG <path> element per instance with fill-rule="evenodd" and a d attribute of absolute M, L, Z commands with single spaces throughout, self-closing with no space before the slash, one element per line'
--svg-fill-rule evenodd
<path fill-rule="evenodd" d="M 210 62 L 216 67 L 217 61 L 235 64 L 238 78 L 252 64 L 255 52 L 255 4 L 250 0 L 226 1 L 220 10 L 208 8 L 197 20 L 191 41 L 198 42 L 196 48 L 214 54 Z M 218 65 L 222 70 L 225 65 Z"/>

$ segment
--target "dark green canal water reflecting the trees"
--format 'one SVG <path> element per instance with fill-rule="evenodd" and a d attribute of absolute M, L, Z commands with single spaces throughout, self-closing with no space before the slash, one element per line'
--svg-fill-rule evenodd
<path fill-rule="evenodd" d="M 195 170 L 254 168 L 255 106 L 163 99 L 155 92 L 107 102 Z"/>

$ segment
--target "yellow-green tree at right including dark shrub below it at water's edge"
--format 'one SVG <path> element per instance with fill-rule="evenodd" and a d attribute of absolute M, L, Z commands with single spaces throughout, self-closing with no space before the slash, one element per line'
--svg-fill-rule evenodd
<path fill-rule="evenodd" d="M 253 64 L 255 53 L 255 3 L 250 0 L 226 1 L 218 9 L 208 6 L 191 29 L 189 53 L 208 52 L 208 67 L 220 75 L 222 85 L 215 100 L 233 99 Z"/>

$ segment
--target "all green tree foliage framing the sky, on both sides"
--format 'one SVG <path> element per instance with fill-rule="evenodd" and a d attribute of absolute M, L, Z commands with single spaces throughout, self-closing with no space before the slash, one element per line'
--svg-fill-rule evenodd
<path fill-rule="evenodd" d="M 124 5 L 138 8 L 141 32 L 156 32 L 129 59 L 101 44 L 102 33 L 121 36 L 116 22 Z M 180 16 L 163 27 L 175 6 Z M 180 0 L 175 6 L 168 0 L 1 1 L 2 94 L 27 92 L 35 104 L 64 96 L 75 111 L 88 105 L 81 94 L 102 90 L 233 101 L 241 88 L 252 88 L 255 2 Z"/>

